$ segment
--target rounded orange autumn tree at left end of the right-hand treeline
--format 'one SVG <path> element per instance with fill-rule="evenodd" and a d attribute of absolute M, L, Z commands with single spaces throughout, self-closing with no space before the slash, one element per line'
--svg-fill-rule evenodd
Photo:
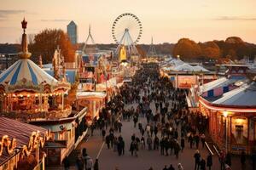
<path fill-rule="evenodd" d="M 195 59 L 201 56 L 201 48 L 189 38 L 182 38 L 174 46 L 172 55 L 180 55 L 182 59 Z"/>

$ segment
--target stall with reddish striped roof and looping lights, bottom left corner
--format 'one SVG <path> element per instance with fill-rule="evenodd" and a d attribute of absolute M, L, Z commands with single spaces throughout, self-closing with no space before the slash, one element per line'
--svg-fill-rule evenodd
<path fill-rule="evenodd" d="M 0 116 L 0 169 L 44 170 L 42 148 L 49 139 L 45 128 Z"/>

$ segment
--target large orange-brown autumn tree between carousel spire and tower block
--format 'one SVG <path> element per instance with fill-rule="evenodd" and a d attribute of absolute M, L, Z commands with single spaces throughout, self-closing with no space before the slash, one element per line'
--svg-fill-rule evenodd
<path fill-rule="evenodd" d="M 65 62 L 73 62 L 75 49 L 73 48 L 67 34 L 62 30 L 45 29 L 34 37 L 29 49 L 33 57 L 40 54 L 44 63 L 50 63 L 57 47 L 61 48 Z"/>

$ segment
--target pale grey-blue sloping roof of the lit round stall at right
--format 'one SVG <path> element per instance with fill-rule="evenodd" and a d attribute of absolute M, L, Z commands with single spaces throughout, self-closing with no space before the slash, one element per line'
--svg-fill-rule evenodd
<path fill-rule="evenodd" d="M 256 82 L 244 84 L 215 100 L 216 105 L 256 106 Z"/>

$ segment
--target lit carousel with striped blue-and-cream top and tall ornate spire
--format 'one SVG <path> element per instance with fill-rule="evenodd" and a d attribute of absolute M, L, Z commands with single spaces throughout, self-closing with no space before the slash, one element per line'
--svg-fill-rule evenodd
<path fill-rule="evenodd" d="M 64 105 L 64 95 L 70 84 L 57 81 L 29 59 L 26 20 L 21 24 L 24 33 L 20 59 L 0 75 L 0 110 L 7 116 L 25 120 L 67 116 L 71 107 Z"/>

